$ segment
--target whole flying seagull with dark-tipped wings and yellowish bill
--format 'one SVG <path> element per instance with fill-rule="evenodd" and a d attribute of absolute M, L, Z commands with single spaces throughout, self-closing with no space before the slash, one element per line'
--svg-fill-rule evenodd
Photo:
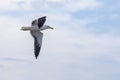
<path fill-rule="evenodd" d="M 43 16 L 41 18 L 33 20 L 30 27 L 23 26 L 21 28 L 21 30 L 23 31 L 30 31 L 31 35 L 34 38 L 34 54 L 36 59 L 39 56 L 39 52 L 42 45 L 43 33 L 41 31 L 46 29 L 53 29 L 49 25 L 44 25 L 45 21 L 46 16 Z"/>

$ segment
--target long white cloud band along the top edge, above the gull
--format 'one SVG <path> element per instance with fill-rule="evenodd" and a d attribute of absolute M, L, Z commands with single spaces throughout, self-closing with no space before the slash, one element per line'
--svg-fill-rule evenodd
<path fill-rule="evenodd" d="M 57 10 L 57 11 L 78 11 L 84 9 L 94 9 L 101 6 L 101 2 L 96 0 L 4 0 L 0 1 L 2 11 L 12 10 Z M 1 12 L 2 12 L 1 11 Z"/>

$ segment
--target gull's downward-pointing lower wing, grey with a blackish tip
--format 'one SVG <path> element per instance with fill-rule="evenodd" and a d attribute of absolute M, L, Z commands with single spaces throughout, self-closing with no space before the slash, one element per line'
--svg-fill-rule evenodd
<path fill-rule="evenodd" d="M 34 54 L 37 59 L 42 45 L 43 33 L 39 31 L 31 31 L 31 34 L 34 38 Z"/>

